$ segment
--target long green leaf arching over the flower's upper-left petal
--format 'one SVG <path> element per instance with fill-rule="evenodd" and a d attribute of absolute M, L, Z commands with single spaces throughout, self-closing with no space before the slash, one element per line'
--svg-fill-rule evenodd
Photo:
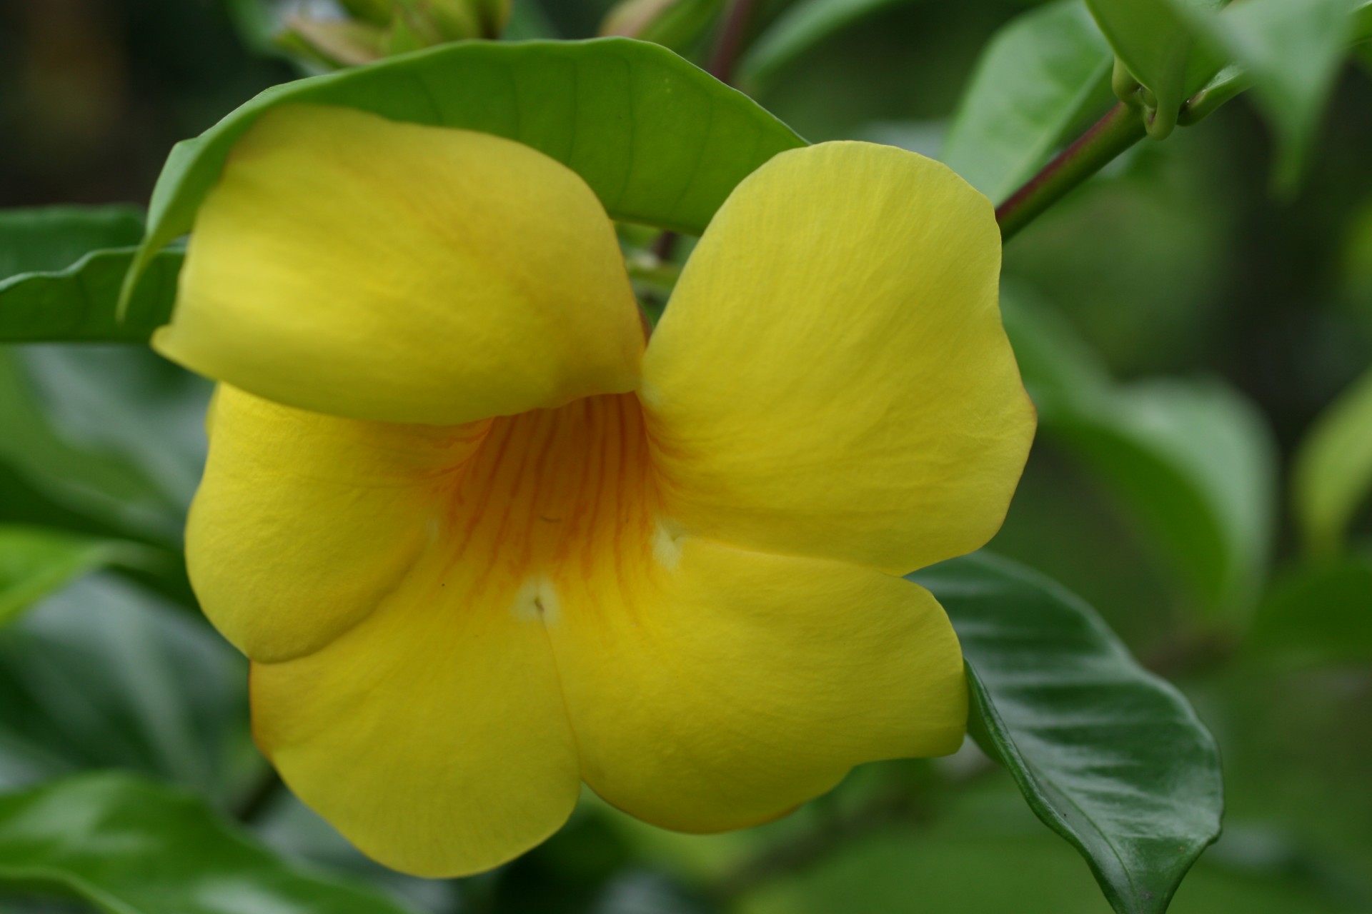
<path fill-rule="evenodd" d="M 804 145 L 752 99 L 671 51 L 631 38 L 468 41 L 273 86 L 178 143 L 152 192 L 126 295 L 156 251 L 191 230 L 229 149 L 280 104 L 493 133 L 580 174 L 609 215 L 700 234 L 744 177 Z"/>

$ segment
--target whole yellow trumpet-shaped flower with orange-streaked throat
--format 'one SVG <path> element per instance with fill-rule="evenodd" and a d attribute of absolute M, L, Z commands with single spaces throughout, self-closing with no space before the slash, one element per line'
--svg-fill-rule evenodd
<path fill-rule="evenodd" d="M 958 640 L 900 576 L 985 543 L 1025 460 L 999 266 L 947 167 L 808 147 L 734 190 L 645 344 L 569 169 L 265 115 L 155 338 L 222 382 L 187 549 L 258 744 L 423 876 L 542 841 L 583 781 L 712 832 L 956 750 Z"/>

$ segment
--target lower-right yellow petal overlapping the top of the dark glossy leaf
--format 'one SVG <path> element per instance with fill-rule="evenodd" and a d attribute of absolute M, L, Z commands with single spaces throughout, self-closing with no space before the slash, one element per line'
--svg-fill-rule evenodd
<path fill-rule="evenodd" d="M 775 818 L 860 762 L 962 741 L 962 654 L 922 588 L 665 533 L 549 633 L 586 782 L 664 828 Z"/>

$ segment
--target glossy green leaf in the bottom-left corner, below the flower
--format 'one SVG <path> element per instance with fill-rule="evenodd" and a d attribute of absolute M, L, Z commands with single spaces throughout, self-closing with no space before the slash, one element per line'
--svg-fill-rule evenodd
<path fill-rule="evenodd" d="M 108 914 L 403 914 L 283 861 L 193 796 L 97 773 L 0 796 L 0 885 Z"/>

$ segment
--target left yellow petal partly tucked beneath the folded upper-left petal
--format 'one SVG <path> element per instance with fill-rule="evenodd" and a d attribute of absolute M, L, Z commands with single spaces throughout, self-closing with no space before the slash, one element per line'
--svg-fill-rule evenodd
<path fill-rule="evenodd" d="M 210 415 L 187 563 L 206 615 L 257 660 L 316 651 L 376 608 L 488 425 L 339 419 L 226 385 Z"/>

